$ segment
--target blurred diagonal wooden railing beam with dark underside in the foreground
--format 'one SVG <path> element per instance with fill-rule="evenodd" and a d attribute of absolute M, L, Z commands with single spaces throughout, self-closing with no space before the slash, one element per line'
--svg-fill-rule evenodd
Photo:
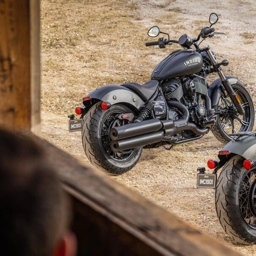
<path fill-rule="evenodd" d="M 79 255 L 240 255 L 107 175 L 33 138 L 46 150 L 73 201 Z"/>

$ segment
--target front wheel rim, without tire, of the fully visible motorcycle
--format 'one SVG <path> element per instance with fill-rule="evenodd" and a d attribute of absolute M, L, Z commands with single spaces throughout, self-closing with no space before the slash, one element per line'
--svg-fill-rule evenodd
<path fill-rule="evenodd" d="M 241 115 L 237 112 L 234 104 L 231 102 L 230 98 L 225 98 L 221 95 L 218 102 L 218 120 L 221 124 L 221 128 L 226 134 L 237 133 L 242 131 L 248 131 L 251 127 L 252 120 L 252 106 L 250 104 L 250 99 L 245 95 L 245 93 L 240 90 L 237 86 L 232 86 L 234 92 L 238 95 L 241 100 L 241 105 L 245 112 Z"/>

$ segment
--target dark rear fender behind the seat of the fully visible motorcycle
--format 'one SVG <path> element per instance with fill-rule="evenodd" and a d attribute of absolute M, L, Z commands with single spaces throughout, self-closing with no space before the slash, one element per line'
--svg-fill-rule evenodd
<path fill-rule="evenodd" d="M 108 101 L 111 105 L 116 103 L 129 103 L 136 109 L 139 109 L 139 107 L 144 104 L 142 98 L 132 90 L 115 84 L 99 87 L 88 96 L 99 101 Z"/>

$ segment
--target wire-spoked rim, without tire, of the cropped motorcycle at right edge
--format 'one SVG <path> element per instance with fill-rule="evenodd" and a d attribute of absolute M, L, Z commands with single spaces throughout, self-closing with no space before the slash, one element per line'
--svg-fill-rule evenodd
<path fill-rule="evenodd" d="M 247 171 L 242 179 L 239 208 L 244 221 L 256 229 L 256 169 Z"/>

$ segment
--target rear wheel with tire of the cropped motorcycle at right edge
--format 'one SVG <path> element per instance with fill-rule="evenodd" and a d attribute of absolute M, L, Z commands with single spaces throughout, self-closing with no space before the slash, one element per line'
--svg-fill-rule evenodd
<path fill-rule="evenodd" d="M 256 168 L 246 170 L 243 160 L 237 155 L 223 167 L 215 190 L 215 207 L 221 226 L 235 242 L 255 244 Z"/>

